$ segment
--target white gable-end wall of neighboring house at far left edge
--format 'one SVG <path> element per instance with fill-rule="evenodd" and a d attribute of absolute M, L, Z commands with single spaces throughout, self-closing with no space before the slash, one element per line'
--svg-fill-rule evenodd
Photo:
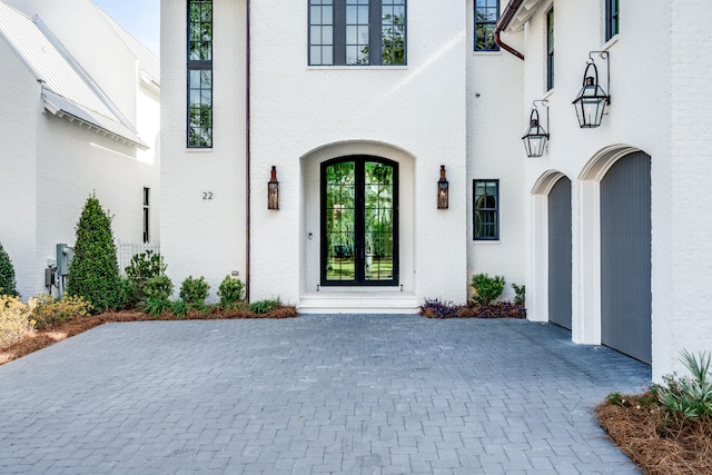
<path fill-rule="evenodd" d="M 0 63 L 0 88 L 7 95 L 0 109 L 0 243 L 12 260 L 18 291 L 27 298 L 34 293 L 34 148 L 40 85 L 1 38 Z"/>

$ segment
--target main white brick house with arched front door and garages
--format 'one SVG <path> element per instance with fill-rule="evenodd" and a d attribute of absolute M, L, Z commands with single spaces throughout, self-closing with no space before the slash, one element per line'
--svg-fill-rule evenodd
<path fill-rule="evenodd" d="M 664 6 L 162 0 L 171 277 L 237 274 L 303 311 L 414 311 L 504 275 L 531 319 L 659 379 L 712 336 L 712 9 Z M 611 105 L 581 128 L 590 58 Z M 535 100 L 550 140 L 527 158 Z"/>

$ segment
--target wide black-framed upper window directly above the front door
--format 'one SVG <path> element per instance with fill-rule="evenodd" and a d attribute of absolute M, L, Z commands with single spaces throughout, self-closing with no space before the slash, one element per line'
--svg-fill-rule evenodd
<path fill-rule="evenodd" d="M 309 65 L 405 65 L 406 1 L 309 0 Z"/>

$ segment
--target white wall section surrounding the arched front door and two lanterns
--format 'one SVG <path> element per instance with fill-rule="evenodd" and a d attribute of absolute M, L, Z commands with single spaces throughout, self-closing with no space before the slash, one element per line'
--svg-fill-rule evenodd
<path fill-rule="evenodd" d="M 400 255 L 402 267 L 414 273 L 412 280 L 402 279 L 412 281 L 404 290 L 465 301 L 465 3 L 409 2 L 407 66 L 365 68 L 307 66 L 305 3 L 265 1 L 251 8 L 253 297 L 279 295 L 295 303 L 315 278 L 300 276 L 305 266 L 318 271 L 318 263 L 299 256 L 307 256 L 306 235 L 313 232 L 318 243 L 319 232 L 300 228 L 300 217 L 313 222 L 308 216 L 318 216 L 317 202 L 300 202 L 307 196 L 301 184 L 309 182 L 300 178 L 300 158 L 332 144 L 357 142 L 364 152 L 367 144 L 383 144 L 414 157 L 412 182 L 400 181 L 402 200 L 409 198 L 404 190 L 415 190 L 414 222 L 400 227 L 400 238 L 411 235 L 415 248 L 412 256 Z M 280 182 L 277 212 L 265 202 L 273 165 Z M 436 209 L 441 165 L 449 181 L 447 210 Z"/>

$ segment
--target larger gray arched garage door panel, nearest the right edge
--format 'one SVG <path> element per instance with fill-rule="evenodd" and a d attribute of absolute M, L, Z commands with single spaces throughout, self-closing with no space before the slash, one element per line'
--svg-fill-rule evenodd
<path fill-rule="evenodd" d="M 630 154 L 601 181 L 601 340 L 651 362 L 650 156 Z"/>

